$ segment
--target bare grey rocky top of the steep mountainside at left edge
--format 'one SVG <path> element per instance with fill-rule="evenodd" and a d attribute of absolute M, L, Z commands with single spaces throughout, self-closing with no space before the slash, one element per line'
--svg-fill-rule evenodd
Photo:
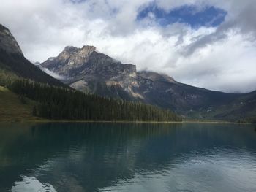
<path fill-rule="evenodd" d="M 12 36 L 8 28 L 0 24 L 0 49 L 7 53 L 16 53 L 23 55 L 18 42 Z"/>

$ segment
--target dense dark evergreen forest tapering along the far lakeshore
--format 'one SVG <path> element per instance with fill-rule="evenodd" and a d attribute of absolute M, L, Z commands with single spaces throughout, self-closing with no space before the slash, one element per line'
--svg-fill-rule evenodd
<path fill-rule="evenodd" d="M 159 107 L 103 98 L 29 80 L 16 80 L 8 88 L 37 101 L 33 114 L 52 120 L 181 121 L 175 113 Z"/>

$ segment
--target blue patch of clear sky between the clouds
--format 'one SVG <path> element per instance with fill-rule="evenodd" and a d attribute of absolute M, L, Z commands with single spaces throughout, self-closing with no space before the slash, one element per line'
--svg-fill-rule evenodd
<path fill-rule="evenodd" d="M 227 12 L 212 6 L 197 10 L 194 5 L 184 5 L 166 12 L 156 4 L 150 4 L 139 12 L 137 20 L 148 18 L 150 14 L 154 15 L 155 20 L 161 26 L 171 23 L 187 23 L 192 28 L 198 28 L 200 26 L 219 26 L 225 20 Z"/>

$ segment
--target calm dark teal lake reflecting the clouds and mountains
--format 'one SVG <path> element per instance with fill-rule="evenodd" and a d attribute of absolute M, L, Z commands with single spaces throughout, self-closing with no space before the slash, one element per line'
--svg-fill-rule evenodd
<path fill-rule="evenodd" d="M 1 123 L 0 191 L 256 191 L 256 127 Z"/>

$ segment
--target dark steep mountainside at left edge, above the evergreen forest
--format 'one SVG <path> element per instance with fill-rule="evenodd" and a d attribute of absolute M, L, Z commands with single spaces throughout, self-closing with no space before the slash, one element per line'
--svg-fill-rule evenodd
<path fill-rule="evenodd" d="M 23 77 L 50 85 L 65 86 L 28 61 L 10 30 L 0 24 L 0 77 Z M 2 78 L 1 78 L 2 81 Z"/>

